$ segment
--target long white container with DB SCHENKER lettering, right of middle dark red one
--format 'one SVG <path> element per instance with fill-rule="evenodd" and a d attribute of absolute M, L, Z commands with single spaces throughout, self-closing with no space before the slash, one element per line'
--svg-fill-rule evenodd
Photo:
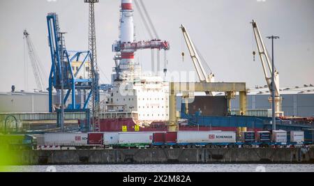
<path fill-rule="evenodd" d="M 177 143 L 235 143 L 236 133 L 229 131 L 179 131 Z"/>

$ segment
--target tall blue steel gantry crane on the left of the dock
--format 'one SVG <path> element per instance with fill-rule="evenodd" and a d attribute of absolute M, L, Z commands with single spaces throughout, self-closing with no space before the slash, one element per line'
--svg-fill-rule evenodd
<path fill-rule="evenodd" d="M 49 76 L 49 111 L 54 111 L 52 102 L 52 91 L 55 88 L 61 91 L 61 108 L 68 102 L 66 111 L 87 111 L 91 98 L 99 102 L 98 72 L 91 68 L 91 52 L 88 51 L 68 51 L 64 40 L 64 33 L 60 31 L 57 13 L 47 15 L 48 40 L 52 66 Z M 91 73 L 95 73 L 91 78 Z M 96 86 L 95 86 L 96 85 Z M 63 90 L 66 95 L 63 96 Z M 87 92 L 84 96 L 84 103 L 77 104 L 75 95 L 80 95 L 80 91 Z M 71 96 L 70 96 L 71 95 Z M 69 97 L 71 100 L 69 100 Z M 82 99 L 82 98 L 80 98 Z M 56 109 L 57 112 L 60 109 Z M 61 114 L 63 115 L 63 113 Z M 59 118 L 59 117 L 58 117 Z M 62 118 L 61 118 L 62 120 Z"/>

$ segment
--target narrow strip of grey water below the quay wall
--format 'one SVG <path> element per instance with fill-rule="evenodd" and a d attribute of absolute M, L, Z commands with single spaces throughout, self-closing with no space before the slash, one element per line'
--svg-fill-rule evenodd
<path fill-rule="evenodd" d="M 103 164 L 10 166 L 8 171 L 27 172 L 314 172 L 314 164 Z"/>

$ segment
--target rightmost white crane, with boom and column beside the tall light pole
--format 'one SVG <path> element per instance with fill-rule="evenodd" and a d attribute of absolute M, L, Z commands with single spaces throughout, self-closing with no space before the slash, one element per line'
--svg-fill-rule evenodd
<path fill-rule="evenodd" d="M 262 62 L 262 68 L 264 72 L 264 76 L 267 82 L 267 86 L 269 87 L 270 93 L 272 93 L 271 88 L 271 75 L 272 75 L 272 66 L 271 66 L 271 57 L 269 56 L 269 53 L 264 45 L 264 41 L 262 39 L 262 35 L 260 33 L 260 29 L 257 27 L 257 23 L 254 22 L 254 20 L 251 22 L 253 26 L 253 32 L 255 36 L 255 41 L 257 44 L 258 54 L 260 55 L 260 61 Z M 255 52 L 253 52 L 253 55 L 255 55 Z M 276 116 L 283 116 L 283 111 L 281 110 L 281 102 L 283 98 L 280 94 L 279 89 L 279 72 L 274 68 L 274 91 L 275 91 L 275 114 Z M 269 96 L 269 102 L 272 101 L 271 96 Z"/>

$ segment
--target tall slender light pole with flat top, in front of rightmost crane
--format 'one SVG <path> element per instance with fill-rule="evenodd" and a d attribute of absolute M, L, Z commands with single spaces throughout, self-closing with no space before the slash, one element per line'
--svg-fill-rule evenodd
<path fill-rule="evenodd" d="M 275 116 L 275 66 L 274 66 L 274 39 L 278 39 L 278 36 L 269 36 L 271 39 L 271 112 L 273 130 L 276 130 L 276 116 Z"/>

